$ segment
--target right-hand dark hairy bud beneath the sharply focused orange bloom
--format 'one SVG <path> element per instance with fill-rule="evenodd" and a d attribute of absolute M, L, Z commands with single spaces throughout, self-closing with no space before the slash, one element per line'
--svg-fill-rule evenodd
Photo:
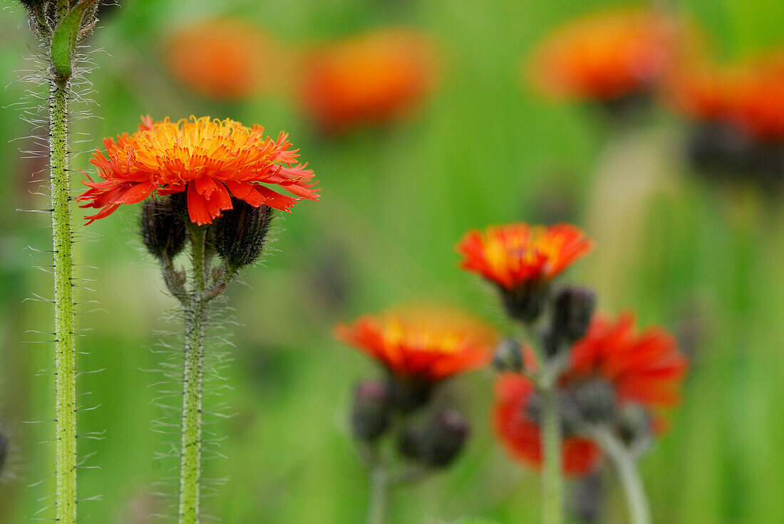
<path fill-rule="evenodd" d="M 234 208 L 223 211 L 213 225 L 215 250 L 227 265 L 238 269 L 256 262 L 264 247 L 264 239 L 270 229 L 272 208 L 232 199 Z"/>

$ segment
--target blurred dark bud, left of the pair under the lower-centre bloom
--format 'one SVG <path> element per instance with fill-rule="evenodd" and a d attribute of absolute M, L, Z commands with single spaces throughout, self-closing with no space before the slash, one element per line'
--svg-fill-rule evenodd
<path fill-rule="evenodd" d="M 354 389 L 351 432 L 354 438 L 372 442 L 390 426 L 390 391 L 383 382 L 361 381 Z"/>

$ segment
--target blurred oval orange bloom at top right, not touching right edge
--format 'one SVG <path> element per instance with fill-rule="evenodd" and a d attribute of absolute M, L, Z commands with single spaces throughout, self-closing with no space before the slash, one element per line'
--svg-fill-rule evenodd
<path fill-rule="evenodd" d="M 675 24 L 651 9 L 592 13 L 558 28 L 532 63 L 548 95 L 612 100 L 650 88 L 670 67 Z"/>

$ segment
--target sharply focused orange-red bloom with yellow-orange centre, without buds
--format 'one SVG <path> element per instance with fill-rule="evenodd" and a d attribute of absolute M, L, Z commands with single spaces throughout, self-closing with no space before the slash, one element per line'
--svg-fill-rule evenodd
<path fill-rule="evenodd" d="M 296 164 L 289 136 L 264 136 L 264 128 L 246 128 L 229 119 L 154 122 L 142 119 L 139 131 L 103 139 L 106 156 L 96 149 L 90 163 L 103 181 L 84 181 L 89 190 L 77 200 L 82 208 L 101 211 L 87 223 L 111 215 L 120 204 L 136 204 L 153 193 L 187 192 L 188 214 L 199 226 L 232 208 L 231 197 L 254 207 L 262 204 L 289 211 L 301 198 L 318 200 L 310 189 L 313 172 Z M 296 197 L 282 195 L 279 186 Z"/>

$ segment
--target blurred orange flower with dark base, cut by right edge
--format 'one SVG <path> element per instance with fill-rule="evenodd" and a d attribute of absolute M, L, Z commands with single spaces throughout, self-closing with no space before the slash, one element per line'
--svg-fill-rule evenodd
<path fill-rule="evenodd" d="M 670 102 L 692 122 L 688 159 L 701 172 L 784 183 L 784 50 L 717 66 L 702 59 L 673 74 Z"/>

